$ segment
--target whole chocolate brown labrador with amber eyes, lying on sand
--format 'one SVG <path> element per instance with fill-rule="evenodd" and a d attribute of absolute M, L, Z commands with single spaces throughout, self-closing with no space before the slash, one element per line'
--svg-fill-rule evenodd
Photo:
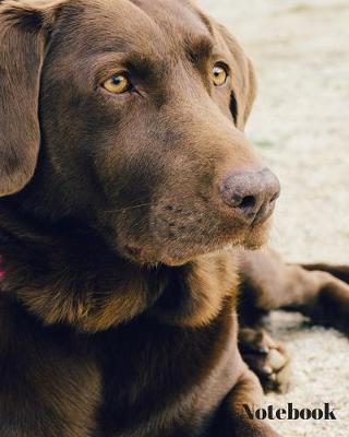
<path fill-rule="evenodd" d="M 264 310 L 349 293 L 238 249 L 279 194 L 243 135 L 254 95 L 192 2 L 0 1 L 1 436 L 277 436 L 244 410 L 262 388 L 239 282 L 246 351 Z"/>

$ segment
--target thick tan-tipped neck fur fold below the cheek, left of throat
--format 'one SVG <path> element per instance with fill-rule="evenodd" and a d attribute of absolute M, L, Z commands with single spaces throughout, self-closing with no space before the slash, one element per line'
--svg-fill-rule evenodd
<path fill-rule="evenodd" d="M 1 206 L 1 291 L 45 323 L 98 331 L 157 298 L 154 272 L 118 258 L 93 229 L 36 223 L 5 202 Z"/>

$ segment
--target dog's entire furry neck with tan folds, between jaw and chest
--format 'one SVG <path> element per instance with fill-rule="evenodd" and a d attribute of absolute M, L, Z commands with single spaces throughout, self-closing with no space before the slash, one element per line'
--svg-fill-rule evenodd
<path fill-rule="evenodd" d="M 215 253 L 179 268 L 119 258 L 93 229 L 48 227 L 0 210 L 0 288 L 46 324 L 96 332 L 147 314 L 198 327 L 234 298 L 236 262 Z"/>

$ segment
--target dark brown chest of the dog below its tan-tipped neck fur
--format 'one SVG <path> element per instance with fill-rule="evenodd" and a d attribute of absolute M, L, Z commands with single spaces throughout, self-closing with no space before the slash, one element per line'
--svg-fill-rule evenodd
<path fill-rule="evenodd" d="M 43 437 L 202 435 L 234 383 L 234 321 L 225 310 L 202 329 L 142 318 L 97 335 L 43 328 L 3 299 L 0 311 L 11 338 L 1 435 L 16 421 Z"/>

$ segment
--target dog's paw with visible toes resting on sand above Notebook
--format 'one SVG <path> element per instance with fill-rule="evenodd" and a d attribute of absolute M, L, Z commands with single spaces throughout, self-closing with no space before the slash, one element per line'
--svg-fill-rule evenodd
<path fill-rule="evenodd" d="M 244 362 L 260 378 L 265 391 L 286 392 L 290 381 L 290 358 L 282 344 L 264 329 L 242 328 L 239 349 Z"/>

